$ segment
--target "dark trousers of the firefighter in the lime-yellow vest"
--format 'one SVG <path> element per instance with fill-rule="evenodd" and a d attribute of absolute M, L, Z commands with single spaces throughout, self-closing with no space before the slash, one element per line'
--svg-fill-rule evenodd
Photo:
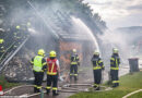
<path fill-rule="evenodd" d="M 44 78 L 44 72 L 35 72 L 34 71 L 34 76 L 35 76 L 34 93 L 39 93 L 40 88 L 42 88 L 43 78 Z"/>

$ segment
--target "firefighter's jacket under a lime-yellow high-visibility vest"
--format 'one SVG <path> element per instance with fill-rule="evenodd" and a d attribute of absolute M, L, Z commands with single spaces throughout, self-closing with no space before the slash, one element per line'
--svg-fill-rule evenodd
<path fill-rule="evenodd" d="M 33 58 L 31 63 L 33 64 L 33 71 L 35 72 L 44 72 L 47 65 L 46 60 L 42 56 Z"/>

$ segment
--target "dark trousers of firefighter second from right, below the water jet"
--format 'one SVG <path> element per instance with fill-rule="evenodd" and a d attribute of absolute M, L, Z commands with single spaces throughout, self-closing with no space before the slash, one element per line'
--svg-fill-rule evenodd
<path fill-rule="evenodd" d="M 94 86 L 98 87 L 102 81 L 102 70 L 94 70 Z"/>

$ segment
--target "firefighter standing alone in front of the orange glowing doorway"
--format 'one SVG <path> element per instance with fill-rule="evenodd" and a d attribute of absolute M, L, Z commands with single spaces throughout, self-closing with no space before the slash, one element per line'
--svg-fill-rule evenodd
<path fill-rule="evenodd" d="M 76 54 L 76 49 L 73 49 L 70 64 L 70 79 L 74 76 L 74 81 L 78 81 L 78 65 L 80 65 L 79 56 Z"/>

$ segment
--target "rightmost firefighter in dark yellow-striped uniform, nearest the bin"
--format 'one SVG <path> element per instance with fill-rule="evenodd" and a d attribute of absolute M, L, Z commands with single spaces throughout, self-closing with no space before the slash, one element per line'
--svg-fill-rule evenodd
<path fill-rule="evenodd" d="M 110 77 L 113 82 L 113 87 L 119 86 L 118 71 L 119 71 L 120 58 L 118 54 L 118 49 L 113 49 L 113 56 L 110 58 Z"/>

